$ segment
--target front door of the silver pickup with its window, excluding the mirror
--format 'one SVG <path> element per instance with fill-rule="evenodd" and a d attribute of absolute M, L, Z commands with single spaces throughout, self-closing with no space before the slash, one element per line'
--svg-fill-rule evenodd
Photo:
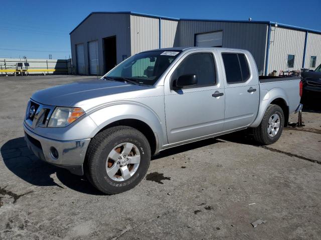
<path fill-rule="evenodd" d="M 217 77 L 217 65 L 212 52 L 188 54 L 166 83 L 166 127 L 169 144 L 210 135 L 223 129 L 224 85 Z M 181 75 L 195 74 L 198 83 L 173 89 Z M 167 90 L 166 90 L 167 91 Z"/>

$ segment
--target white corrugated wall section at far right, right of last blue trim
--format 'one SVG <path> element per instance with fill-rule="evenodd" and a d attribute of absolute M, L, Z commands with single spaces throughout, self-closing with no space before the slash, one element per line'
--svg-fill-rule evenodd
<path fill-rule="evenodd" d="M 321 34 L 309 32 L 306 42 L 306 53 L 304 67 L 314 69 L 310 67 L 310 57 L 316 56 L 315 67 L 321 64 Z"/>

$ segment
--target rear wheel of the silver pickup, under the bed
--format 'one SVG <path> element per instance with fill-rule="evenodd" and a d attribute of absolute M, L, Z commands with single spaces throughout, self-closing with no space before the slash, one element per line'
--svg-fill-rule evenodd
<path fill-rule="evenodd" d="M 264 145 L 276 142 L 283 131 L 284 113 L 280 106 L 270 104 L 259 126 L 253 128 L 254 139 Z"/>

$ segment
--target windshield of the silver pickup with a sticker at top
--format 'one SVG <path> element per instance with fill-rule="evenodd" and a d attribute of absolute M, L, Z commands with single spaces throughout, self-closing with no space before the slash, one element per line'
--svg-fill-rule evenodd
<path fill-rule="evenodd" d="M 120 63 L 105 78 L 122 78 L 139 84 L 153 85 L 180 52 L 156 50 L 138 53 Z"/>

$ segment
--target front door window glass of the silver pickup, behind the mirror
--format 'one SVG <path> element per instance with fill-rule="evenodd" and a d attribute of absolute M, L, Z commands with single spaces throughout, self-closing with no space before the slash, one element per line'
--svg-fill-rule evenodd
<path fill-rule="evenodd" d="M 187 56 L 175 70 L 172 79 L 179 76 L 195 74 L 198 79 L 196 86 L 215 85 L 216 71 L 212 53 L 195 53 Z"/>

